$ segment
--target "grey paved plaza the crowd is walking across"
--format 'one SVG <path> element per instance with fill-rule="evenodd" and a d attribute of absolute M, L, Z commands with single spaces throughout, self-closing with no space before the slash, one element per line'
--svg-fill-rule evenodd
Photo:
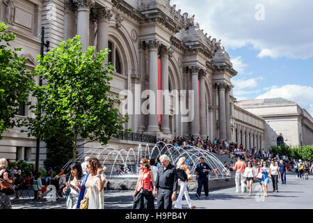
<path fill-rule="evenodd" d="M 313 208 L 313 176 L 310 175 L 309 180 L 297 179 L 294 174 L 287 176 L 287 185 L 279 182 L 278 193 L 273 193 L 272 183 L 268 185 L 268 197 L 263 197 L 263 192 L 259 187 L 259 183 L 253 184 L 252 196 L 246 193 L 235 193 L 235 188 L 230 187 L 221 190 L 214 190 L 209 193 L 209 199 L 195 199 L 195 193 L 191 193 L 191 199 L 199 209 L 306 209 Z M 258 189 L 259 188 L 259 189 Z M 132 208 L 133 191 L 113 191 L 107 190 L 105 194 L 106 209 L 129 209 Z M 204 194 L 202 193 L 202 196 Z M 156 202 L 157 204 L 157 202 Z M 12 201 L 13 209 L 65 209 L 65 201 L 59 199 L 52 201 L 33 201 L 33 199 L 21 199 Z M 183 198 L 183 208 L 188 208 L 186 200 Z"/>

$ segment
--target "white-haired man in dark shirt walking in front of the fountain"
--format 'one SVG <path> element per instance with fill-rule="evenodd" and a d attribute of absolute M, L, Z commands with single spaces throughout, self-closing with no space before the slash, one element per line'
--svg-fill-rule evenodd
<path fill-rule="evenodd" d="M 170 163 L 168 155 L 161 155 L 159 160 L 163 167 L 158 170 L 154 196 L 157 197 L 158 209 L 172 209 L 172 201 L 175 201 L 178 190 L 177 171 Z"/>

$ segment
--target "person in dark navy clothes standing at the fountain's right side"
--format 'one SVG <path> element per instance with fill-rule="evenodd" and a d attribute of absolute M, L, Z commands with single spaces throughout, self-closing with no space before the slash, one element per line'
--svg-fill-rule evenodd
<path fill-rule="evenodd" d="M 209 178 L 207 178 L 207 176 L 212 170 L 209 164 L 204 162 L 204 157 L 200 157 L 199 161 L 200 163 L 195 167 L 195 179 L 198 180 L 198 188 L 195 197 L 198 199 L 201 197 L 202 185 L 204 187 L 205 197 L 209 197 Z"/>

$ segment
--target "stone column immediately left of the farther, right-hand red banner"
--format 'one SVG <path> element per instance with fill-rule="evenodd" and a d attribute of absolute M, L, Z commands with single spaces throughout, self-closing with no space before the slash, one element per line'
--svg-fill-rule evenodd
<path fill-rule="evenodd" d="M 193 98 L 193 121 L 191 121 L 191 134 L 197 139 L 200 137 L 199 130 L 199 90 L 198 90 L 198 76 L 199 76 L 199 66 L 191 66 L 191 90 L 194 93 Z"/>

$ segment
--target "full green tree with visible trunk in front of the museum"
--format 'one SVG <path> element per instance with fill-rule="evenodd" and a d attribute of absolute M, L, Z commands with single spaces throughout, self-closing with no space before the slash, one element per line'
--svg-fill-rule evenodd
<path fill-rule="evenodd" d="M 27 118 L 24 125 L 29 134 L 41 139 L 51 139 L 60 134 L 71 138 L 73 160 L 77 158 L 77 147 L 90 141 L 107 144 L 122 130 L 127 116 L 120 116 L 120 100 L 110 95 L 113 67 L 104 65 L 108 51 L 95 54 L 95 47 L 81 50 L 79 36 L 63 41 L 43 58 L 35 73 L 47 82 L 36 86 L 33 96 L 36 105 L 31 107 L 37 118 Z M 41 116 L 39 116 L 41 114 Z M 85 139 L 79 144 L 79 137 Z"/>

